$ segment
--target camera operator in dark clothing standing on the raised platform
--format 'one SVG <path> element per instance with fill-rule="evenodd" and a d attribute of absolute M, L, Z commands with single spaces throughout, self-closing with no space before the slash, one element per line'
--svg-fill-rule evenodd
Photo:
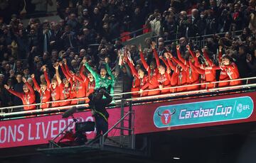
<path fill-rule="evenodd" d="M 105 96 L 106 99 L 102 99 Z M 107 93 L 105 88 L 96 89 L 88 97 L 90 99 L 89 106 L 92 109 L 92 115 L 95 117 L 96 123 L 96 137 L 104 135 L 108 130 L 107 119 L 109 118 L 109 113 L 106 111 L 106 106 L 111 103 L 112 96 Z"/>

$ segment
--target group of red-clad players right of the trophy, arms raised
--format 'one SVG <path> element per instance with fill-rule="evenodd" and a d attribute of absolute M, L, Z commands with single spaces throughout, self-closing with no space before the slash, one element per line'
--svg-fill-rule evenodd
<path fill-rule="evenodd" d="M 132 96 L 170 94 L 179 91 L 235 86 L 242 83 L 240 80 L 230 81 L 240 79 L 240 74 L 233 59 L 228 55 L 222 56 L 221 46 L 218 52 L 218 64 L 214 64 L 213 60 L 210 59 L 206 48 L 202 49 L 203 55 L 199 50 L 193 52 L 190 45 L 186 45 L 186 48 L 190 55 L 185 60 L 181 55 L 180 45 L 176 45 L 177 57 L 174 57 L 169 47 L 166 47 L 164 55 L 159 55 L 156 52 L 156 43 L 152 42 L 151 49 L 155 60 L 149 66 L 139 46 L 139 55 L 147 73 L 139 66 L 138 69 L 135 69 L 134 62 L 127 60 L 129 57 L 126 57 L 125 62 L 129 65 L 134 77 L 131 89 L 134 92 Z M 129 55 L 129 52 L 125 55 Z M 218 69 L 220 72 L 217 75 L 216 70 Z M 214 81 L 217 80 L 220 82 L 215 83 Z"/>

